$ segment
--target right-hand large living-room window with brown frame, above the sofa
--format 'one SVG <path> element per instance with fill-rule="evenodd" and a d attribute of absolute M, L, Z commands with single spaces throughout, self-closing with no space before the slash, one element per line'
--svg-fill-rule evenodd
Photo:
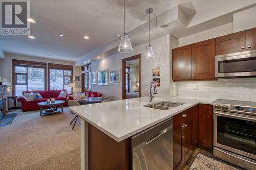
<path fill-rule="evenodd" d="M 49 89 L 63 90 L 66 89 L 71 92 L 69 83 L 73 82 L 73 66 L 48 64 L 49 69 Z"/>

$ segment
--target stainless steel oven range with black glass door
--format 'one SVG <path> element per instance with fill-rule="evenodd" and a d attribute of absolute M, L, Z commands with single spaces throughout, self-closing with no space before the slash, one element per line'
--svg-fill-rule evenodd
<path fill-rule="evenodd" d="M 214 102 L 214 156 L 256 169 L 256 103 Z"/>

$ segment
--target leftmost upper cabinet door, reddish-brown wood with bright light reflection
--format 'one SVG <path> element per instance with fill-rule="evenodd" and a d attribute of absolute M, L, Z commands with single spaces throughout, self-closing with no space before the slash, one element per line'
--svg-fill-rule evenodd
<path fill-rule="evenodd" d="M 173 80 L 189 80 L 191 77 L 191 45 L 173 49 Z"/>

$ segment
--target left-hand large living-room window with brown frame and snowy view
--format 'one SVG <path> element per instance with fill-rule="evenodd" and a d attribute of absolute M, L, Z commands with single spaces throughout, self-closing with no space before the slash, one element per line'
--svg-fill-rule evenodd
<path fill-rule="evenodd" d="M 12 60 L 13 95 L 23 91 L 46 90 L 46 63 Z"/>

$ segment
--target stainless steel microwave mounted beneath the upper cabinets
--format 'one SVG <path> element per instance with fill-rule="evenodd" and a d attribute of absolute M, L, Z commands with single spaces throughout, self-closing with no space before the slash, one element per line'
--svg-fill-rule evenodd
<path fill-rule="evenodd" d="M 217 78 L 256 76 L 256 50 L 216 56 Z"/>

